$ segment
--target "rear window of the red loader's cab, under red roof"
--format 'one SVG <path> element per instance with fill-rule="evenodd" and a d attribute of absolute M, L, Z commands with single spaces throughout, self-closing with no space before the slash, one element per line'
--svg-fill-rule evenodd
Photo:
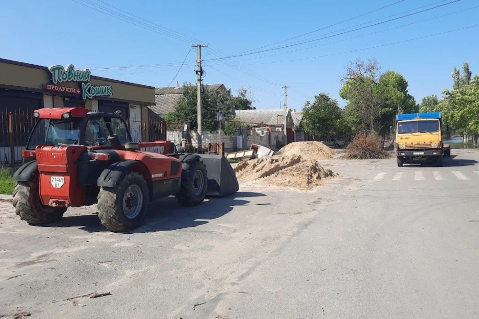
<path fill-rule="evenodd" d="M 39 119 L 31 133 L 27 150 L 38 145 L 78 144 L 81 119 Z"/>

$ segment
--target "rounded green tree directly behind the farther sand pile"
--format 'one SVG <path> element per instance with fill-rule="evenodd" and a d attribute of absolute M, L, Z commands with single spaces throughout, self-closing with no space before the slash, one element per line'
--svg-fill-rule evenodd
<path fill-rule="evenodd" d="M 326 93 L 314 96 L 303 107 L 303 128 L 308 134 L 321 137 L 338 133 L 340 128 L 341 109 L 338 101 L 333 100 Z"/>

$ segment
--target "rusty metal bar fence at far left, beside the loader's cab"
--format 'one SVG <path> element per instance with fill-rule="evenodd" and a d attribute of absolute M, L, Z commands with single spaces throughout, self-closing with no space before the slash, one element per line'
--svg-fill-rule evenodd
<path fill-rule="evenodd" d="M 14 112 L 0 111 L 0 162 L 10 163 L 21 161 L 21 151 L 26 148 L 28 137 L 35 125 L 31 112 L 17 110 Z"/>

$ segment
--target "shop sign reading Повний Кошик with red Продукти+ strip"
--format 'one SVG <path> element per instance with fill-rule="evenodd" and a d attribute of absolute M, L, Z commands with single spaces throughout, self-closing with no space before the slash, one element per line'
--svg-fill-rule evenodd
<path fill-rule="evenodd" d="M 92 99 L 96 96 L 112 96 L 111 85 L 93 86 L 90 83 L 91 72 L 88 69 L 75 70 L 73 64 L 68 64 L 66 68 L 61 65 L 54 65 L 48 68 L 53 84 L 63 82 L 81 82 L 81 90 L 68 88 L 60 85 L 45 84 L 43 88 L 48 91 L 72 93 L 82 95 L 83 100 Z"/>

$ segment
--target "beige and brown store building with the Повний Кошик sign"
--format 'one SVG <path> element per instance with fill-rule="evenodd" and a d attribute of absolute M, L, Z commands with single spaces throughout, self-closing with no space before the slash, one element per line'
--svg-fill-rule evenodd
<path fill-rule="evenodd" d="M 148 106 L 155 88 L 91 75 L 73 65 L 51 67 L 0 59 L 0 112 L 32 113 L 39 108 L 85 107 L 120 111 L 134 141 L 145 140 Z M 143 137 L 143 139 L 142 139 Z M 0 137 L 1 140 L 1 137 Z"/>

